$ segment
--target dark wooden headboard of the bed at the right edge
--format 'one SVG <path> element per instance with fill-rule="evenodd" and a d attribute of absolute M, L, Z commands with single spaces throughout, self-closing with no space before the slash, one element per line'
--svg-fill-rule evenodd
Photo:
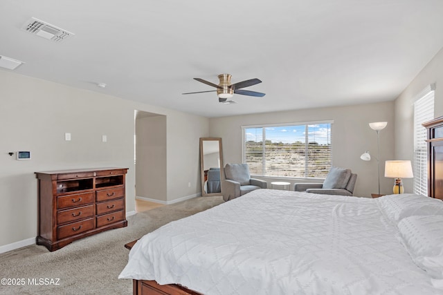
<path fill-rule="evenodd" d="M 428 196 L 443 200 L 443 117 L 423 126 L 428 131 Z"/>

